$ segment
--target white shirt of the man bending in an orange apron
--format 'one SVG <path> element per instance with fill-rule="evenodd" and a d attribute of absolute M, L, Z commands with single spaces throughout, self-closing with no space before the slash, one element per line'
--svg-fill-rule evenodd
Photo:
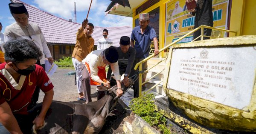
<path fill-rule="evenodd" d="M 90 67 L 90 77 L 92 78 L 93 81 L 99 80 L 98 76 L 98 67 L 105 67 L 106 64 L 103 63 L 102 55 L 103 55 L 104 50 L 95 50 L 90 52 L 84 60 L 82 60 L 82 63 L 85 64 L 88 63 Z M 118 62 L 113 63 L 110 65 L 112 72 L 114 74 L 113 78 L 115 80 L 120 80 L 121 76 L 119 74 L 119 67 L 118 67 Z"/>

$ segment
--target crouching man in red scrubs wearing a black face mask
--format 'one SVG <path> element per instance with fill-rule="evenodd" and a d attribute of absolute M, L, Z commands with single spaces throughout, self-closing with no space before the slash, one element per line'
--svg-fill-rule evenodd
<path fill-rule="evenodd" d="M 0 64 L 0 134 L 31 134 L 44 125 L 44 117 L 53 98 L 53 85 L 44 68 L 35 64 L 42 52 L 31 40 L 6 42 L 5 63 Z M 28 112 L 36 86 L 44 92 L 40 114 Z"/>

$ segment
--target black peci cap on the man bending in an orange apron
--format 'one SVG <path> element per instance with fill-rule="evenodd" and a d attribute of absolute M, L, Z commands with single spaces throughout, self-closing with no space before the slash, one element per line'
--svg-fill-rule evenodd
<path fill-rule="evenodd" d="M 118 60 L 118 52 L 116 51 L 116 48 L 113 46 L 110 46 L 105 50 L 105 57 L 110 63 L 116 63 Z"/>

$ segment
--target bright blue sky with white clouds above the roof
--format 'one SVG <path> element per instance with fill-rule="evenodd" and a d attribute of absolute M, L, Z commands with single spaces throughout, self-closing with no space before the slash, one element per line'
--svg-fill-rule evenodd
<path fill-rule="evenodd" d="M 76 1 L 76 18 L 77 23 L 82 23 L 86 18 L 91 0 L 21 0 L 40 10 L 46 11 L 65 20 L 73 19 L 75 22 L 74 2 Z M 0 22 L 2 23 L 4 32 L 5 27 L 14 23 L 15 20 L 10 14 L 10 0 L 0 0 Z M 88 20 L 94 26 L 100 27 L 116 27 L 116 26 L 132 26 L 132 17 L 123 17 L 113 14 L 105 16 L 105 10 L 111 3 L 110 0 L 93 0 Z"/>

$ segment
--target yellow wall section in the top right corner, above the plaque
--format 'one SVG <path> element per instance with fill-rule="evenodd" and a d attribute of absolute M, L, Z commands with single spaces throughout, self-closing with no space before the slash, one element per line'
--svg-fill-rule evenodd
<path fill-rule="evenodd" d="M 232 1 L 230 30 L 236 36 L 256 35 L 256 0 Z"/>

